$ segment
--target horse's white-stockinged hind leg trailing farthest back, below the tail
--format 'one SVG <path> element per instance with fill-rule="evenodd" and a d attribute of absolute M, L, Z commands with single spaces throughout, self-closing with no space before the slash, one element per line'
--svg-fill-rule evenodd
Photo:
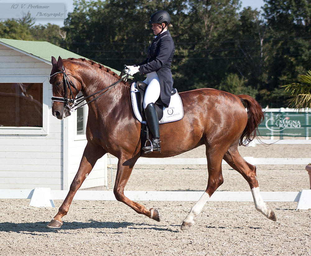
<path fill-rule="evenodd" d="M 256 167 L 252 164 L 246 162 L 238 152 L 237 143 L 232 145 L 230 149 L 226 152 L 224 160 L 232 167 L 234 170 L 242 174 L 242 176 L 248 182 L 251 192 L 253 195 L 255 208 L 260 211 L 268 219 L 276 221 L 276 215 L 272 209 L 268 209 L 266 203 L 263 201 L 260 195 Z"/>

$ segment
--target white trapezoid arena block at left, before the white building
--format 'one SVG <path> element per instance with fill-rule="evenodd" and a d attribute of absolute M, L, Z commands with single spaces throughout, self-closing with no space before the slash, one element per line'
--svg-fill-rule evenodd
<path fill-rule="evenodd" d="M 29 206 L 34 207 L 55 207 L 51 188 L 49 187 L 35 187 Z"/>

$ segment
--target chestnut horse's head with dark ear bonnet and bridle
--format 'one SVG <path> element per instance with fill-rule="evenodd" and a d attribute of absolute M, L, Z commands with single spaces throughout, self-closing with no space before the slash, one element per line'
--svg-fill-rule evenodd
<path fill-rule="evenodd" d="M 58 119 L 70 116 L 70 106 L 81 90 L 81 83 L 74 76 L 74 69 L 71 65 L 63 65 L 63 59 L 58 60 L 52 56 L 52 71 L 50 84 L 52 84 L 52 113 Z"/>

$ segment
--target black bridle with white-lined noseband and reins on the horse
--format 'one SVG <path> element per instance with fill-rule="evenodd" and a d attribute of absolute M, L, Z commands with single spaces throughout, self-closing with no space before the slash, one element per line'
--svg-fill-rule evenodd
<path fill-rule="evenodd" d="M 77 90 L 77 88 L 75 87 L 74 83 L 72 83 L 72 81 L 70 80 L 70 78 L 68 77 L 68 75 L 66 74 L 65 72 L 65 68 L 63 67 L 63 71 L 59 71 L 59 72 L 56 72 L 52 75 L 50 75 L 50 78 L 53 77 L 54 75 L 56 74 L 60 74 L 60 73 L 63 73 L 63 86 L 64 86 L 64 97 L 52 97 L 52 102 L 56 101 L 56 102 L 64 102 L 64 107 L 67 107 L 70 111 L 76 111 L 78 108 L 81 108 L 83 107 L 84 105 L 86 104 L 89 104 L 91 103 L 92 101 L 95 101 L 96 99 L 98 99 L 99 97 L 103 96 L 105 93 L 109 92 L 112 88 L 114 88 L 118 83 L 120 83 L 122 80 L 124 80 L 125 82 L 127 81 L 127 78 L 129 76 L 129 74 L 127 74 L 126 76 L 124 76 L 123 78 L 119 79 L 117 82 L 114 82 L 113 84 L 109 85 L 108 87 L 100 90 L 99 92 L 95 92 L 87 97 L 83 97 L 80 96 L 80 97 L 77 97 L 75 98 L 73 96 L 73 93 L 72 93 L 72 89 L 71 87 L 73 87 L 77 93 L 79 93 L 79 91 Z M 122 70 L 120 76 L 122 76 L 124 73 L 124 69 Z M 69 91 L 70 91 L 70 94 L 69 94 L 69 99 L 68 99 L 68 88 L 69 88 Z M 105 92 L 103 92 L 104 90 L 106 90 Z M 77 105 L 81 104 L 81 102 L 83 102 L 85 99 L 87 98 L 90 98 L 100 92 L 103 92 L 102 94 L 98 95 L 97 97 L 95 97 L 94 99 L 92 99 L 91 101 L 89 102 L 86 102 L 85 104 L 77 107 Z"/>

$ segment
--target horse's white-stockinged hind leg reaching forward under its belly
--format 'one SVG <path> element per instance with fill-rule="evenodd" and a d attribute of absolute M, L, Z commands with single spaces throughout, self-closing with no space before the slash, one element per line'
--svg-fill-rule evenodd
<path fill-rule="evenodd" d="M 221 150 L 216 151 L 216 147 L 206 150 L 208 169 L 207 188 L 199 201 L 196 202 L 187 217 L 183 220 L 183 224 L 180 227 L 181 230 L 187 230 L 195 225 L 193 219 L 200 214 L 205 203 L 210 199 L 215 190 L 224 182 L 221 173 L 221 162 L 224 152 L 220 151 Z"/>

